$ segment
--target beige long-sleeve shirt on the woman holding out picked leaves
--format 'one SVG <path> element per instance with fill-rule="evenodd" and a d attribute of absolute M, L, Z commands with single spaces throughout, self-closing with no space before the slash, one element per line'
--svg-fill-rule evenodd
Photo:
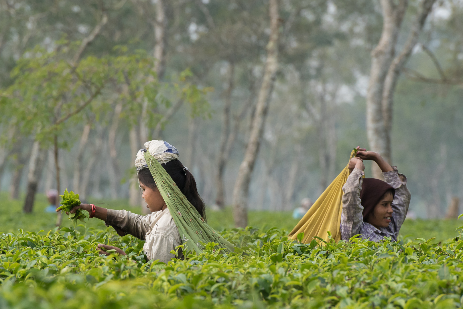
<path fill-rule="evenodd" d="M 167 264 L 175 255 L 170 253 L 182 244 L 180 233 L 169 209 L 142 216 L 126 210 L 108 209 L 106 226 L 112 226 L 120 236 L 133 235 L 145 241 L 143 251 L 148 260 Z M 181 250 L 179 257 L 183 258 Z"/>

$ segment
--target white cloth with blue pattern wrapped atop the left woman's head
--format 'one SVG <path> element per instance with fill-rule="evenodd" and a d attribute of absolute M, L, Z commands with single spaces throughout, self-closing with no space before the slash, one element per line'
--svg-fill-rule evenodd
<path fill-rule="evenodd" d="M 150 154 L 161 164 L 165 164 L 179 158 L 177 148 L 168 142 L 152 140 L 145 142 L 144 146 L 146 150 L 148 150 Z M 144 159 L 144 150 L 145 149 L 140 149 L 137 153 L 137 158 L 135 159 L 135 167 L 137 167 L 138 171 L 148 167 L 148 164 Z"/>

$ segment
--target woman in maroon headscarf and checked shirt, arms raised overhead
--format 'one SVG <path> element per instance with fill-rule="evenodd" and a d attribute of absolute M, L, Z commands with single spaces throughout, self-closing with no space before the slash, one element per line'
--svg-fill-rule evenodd
<path fill-rule="evenodd" d="M 351 173 L 343 186 L 341 238 L 348 240 L 360 234 L 370 241 L 388 236 L 397 241 L 410 204 L 407 178 L 380 154 L 365 148 L 357 149 L 356 156 L 349 161 Z M 365 169 L 363 160 L 375 161 L 385 181 L 362 178 Z"/>

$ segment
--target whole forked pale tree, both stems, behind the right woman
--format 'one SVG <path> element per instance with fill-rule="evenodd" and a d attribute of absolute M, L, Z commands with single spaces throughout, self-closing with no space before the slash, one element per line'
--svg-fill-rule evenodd
<path fill-rule="evenodd" d="M 367 91 L 367 137 L 371 150 L 380 153 L 392 163 L 391 128 L 394 91 L 401 69 L 418 42 L 426 17 L 435 0 L 422 0 L 407 42 L 398 56 L 395 46 L 402 20 L 407 10 L 408 1 L 381 0 L 383 27 L 378 46 L 371 53 L 370 80 Z M 372 165 L 373 177 L 382 179 L 380 168 Z"/>

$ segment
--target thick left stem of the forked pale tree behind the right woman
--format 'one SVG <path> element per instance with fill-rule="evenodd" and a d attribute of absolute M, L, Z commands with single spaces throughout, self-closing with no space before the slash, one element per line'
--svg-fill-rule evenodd
<path fill-rule="evenodd" d="M 386 131 L 382 115 L 382 93 L 384 80 L 395 53 L 395 45 L 399 36 L 408 1 L 400 0 L 394 4 L 392 0 L 381 0 L 383 25 L 378 45 L 371 52 L 370 79 L 367 90 L 367 138 L 371 150 L 380 154 L 386 153 Z M 384 159 L 390 162 L 389 157 Z M 372 165 L 373 177 L 382 179 L 379 167 Z"/>

